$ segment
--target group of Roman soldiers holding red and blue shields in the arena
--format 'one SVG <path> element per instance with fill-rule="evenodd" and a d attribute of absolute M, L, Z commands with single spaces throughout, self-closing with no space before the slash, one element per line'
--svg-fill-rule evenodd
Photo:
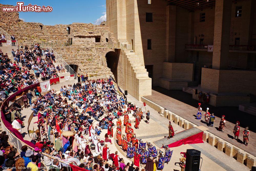
<path fill-rule="evenodd" d="M 149 112 L 149 111 L 148 111 Z M 141 109 L 135 112 L 135 128 L 138 129 L 140 120 L 143 118 L 143 113 Z M 173 151 L 170 150 L 168 146 L 164 146 L 165 152 L 162 152 L 160 149 L 156 150 L 156 147 L 153 146 L 150 142 L 144 143 L 141 139 L 136 138 L 136 134 L 133 132 L 131 120 L 129 119 L 128 112 L 124 114 L 124 123 L 125 134 L 122 134 L 122 121 L 121 119 L 116 122 L 117 133 L 116 139 L 118 145 L 122 146 L 123 151 L 127 152 L 127 157 L 134 159 L 133 164 L 137 167 L 140 165 L 146 164 L 145 170 L 153 171 L 154 166 L 157 169 L 163 169 L 164 164 L 170 161 Z M 171 126 L 171 125 L 170 125 Z M 173 130 L 173 129 L 172 129 Z M 173 131 L 172 131 L 173 132 Z M 174 133 L 173 133 L 174 134 Z M 169 137 L 172 137 L 171 134 Z M 146 150 L 147 145 L 147 150 Z M 154 162 L 154 159 L 157 158 L 158 161 Z"/>

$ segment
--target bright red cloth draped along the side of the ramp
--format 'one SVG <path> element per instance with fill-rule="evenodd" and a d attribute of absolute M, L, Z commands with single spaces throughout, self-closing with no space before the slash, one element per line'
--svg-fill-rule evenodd
<path fill-rule="evenodd" d="M 168 147 L 178 147 L 181 146 L 182 144 L 196 144 L 196 143 L 204 143 L 203 142 L 203 133 L 200 132 L 198 134 L 189 136 L 187 138 L 184 138 L 182 140 L 176 141 L 172 144 L 169 144 Z"/>

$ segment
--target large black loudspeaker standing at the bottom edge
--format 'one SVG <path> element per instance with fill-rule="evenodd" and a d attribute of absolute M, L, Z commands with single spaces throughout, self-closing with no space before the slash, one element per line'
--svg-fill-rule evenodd
<path fill-rule="evenodd" d="M 198 171 L 201 152 L 196 149 L 187 149 L 185 171 Z"/>

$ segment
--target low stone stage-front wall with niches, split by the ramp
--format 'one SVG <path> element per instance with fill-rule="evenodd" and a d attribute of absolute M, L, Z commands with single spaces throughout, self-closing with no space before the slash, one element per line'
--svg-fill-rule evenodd
<path fill-rule="evenodd" d="M 197 125 L 189 122 L 188 120 L 176 115 L 169 110 L 165 110 L 162 106 L 142 97 L 141 100 L 146 102 L 148 106 L 158 111 L 160 116 L 167 118 L 170 121 L 173 121 L 175 124 L 183 127 L 185 130 L 192 127 L 197 127 Z M 237 146 L 232 145 L 231 143 L 221 139 L 220 137 L 208 132 L 203 131 L 203 141 L 207 142 L 211 146 L 216 147 L 219 151 L 222 151 L 226 155 L 233 157 L 239 163 L 246 165 L 249 168 L 256 165 L 256 157 L 250 153 L 238 148 Z"/>

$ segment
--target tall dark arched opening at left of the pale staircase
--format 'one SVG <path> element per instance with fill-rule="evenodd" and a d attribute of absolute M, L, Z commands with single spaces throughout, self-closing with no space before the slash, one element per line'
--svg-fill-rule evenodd
<path fill-rule="evenodd" d="M 116 54 L 116 52 L 109 51 L 105 57 L 107 61 L 107 66 L 108 68 L 110 68 L 117 82 L 117 66 L 118 66 L 119 56 Z"/>

